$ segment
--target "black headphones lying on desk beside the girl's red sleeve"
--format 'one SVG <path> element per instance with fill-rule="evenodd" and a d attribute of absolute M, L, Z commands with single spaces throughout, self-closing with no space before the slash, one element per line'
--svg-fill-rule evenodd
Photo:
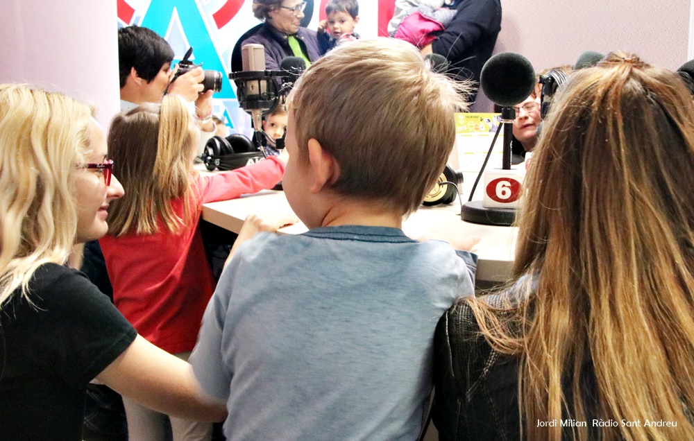
<path fill-rule="evenodd" d="M 265 157 L 255 149 L 250 139 L 239 133 L 228 137 L 212 137 L 205 144 L 200 159 L 209 171 L 235 170 L 253 162 L 262 161 Z"/>

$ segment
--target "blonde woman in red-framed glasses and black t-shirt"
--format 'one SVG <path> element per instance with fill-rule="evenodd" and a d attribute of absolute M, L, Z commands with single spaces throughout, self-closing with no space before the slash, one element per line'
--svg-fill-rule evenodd
<path fill-rule="evenodd" d="M 106 234 L 123 196 L 90 107 L 0 85 L 0 152 L 0 439 L 81 440 L 94 378 L 162 412 L 222 420 L 187 363 L 65 264 L 74 243 Z"/>

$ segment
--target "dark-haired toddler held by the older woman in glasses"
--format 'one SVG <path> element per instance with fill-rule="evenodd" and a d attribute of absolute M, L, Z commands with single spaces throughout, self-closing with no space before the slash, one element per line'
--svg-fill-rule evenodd
<path fill-rule="evenodd" d="M 318 26 L 318 44 L 322 53 L 341 44 L 341 42 L 357 40 L 359 35 L 354 32 L 359 23 L 359 3 L 357 0 L 330 0 L 325 5 L 327 20 L 322 20 Z M 325 32 L 328 29 L 330 33 Z"/>

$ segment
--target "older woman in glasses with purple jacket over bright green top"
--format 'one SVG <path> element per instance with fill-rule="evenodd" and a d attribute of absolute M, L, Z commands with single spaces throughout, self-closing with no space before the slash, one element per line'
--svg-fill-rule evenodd
<path fill-rule="evenodd" d="M 316 31 L 300 26 L 306 2 L 302 0 L 254 0 L 253 15 L 264 24 L 242 45 L 262 44 L 265 69 L 280 70 L 287 57 L 303 58 L 306 67 L 321 58 Z"/>

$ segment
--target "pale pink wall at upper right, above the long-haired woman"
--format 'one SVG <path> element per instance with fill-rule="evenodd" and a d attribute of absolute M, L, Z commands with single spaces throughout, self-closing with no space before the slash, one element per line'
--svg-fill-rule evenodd
<path fill-rule="evenodd" d="M 674 70 L 687 61 L 689 8 L 690 0 L 502 0 L 495 52 L 521 53 L 540 71 L 585 51 L 624 50 Z M 473 110 L 489 105 L 480 101 Z"/>

